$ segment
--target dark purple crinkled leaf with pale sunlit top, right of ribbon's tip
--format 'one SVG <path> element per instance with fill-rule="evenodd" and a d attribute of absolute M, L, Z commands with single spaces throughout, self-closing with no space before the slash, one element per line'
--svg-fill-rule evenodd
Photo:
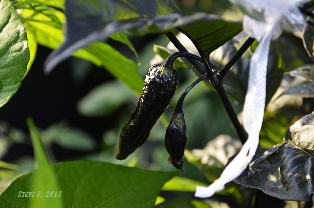
<path fill-rule="evenodd" d="M 313 125 L 313 114 L 298 120 L 290 127 L 285 142 L 268 150 L 258 149 L 234 182 L 282 200 L 313 200 Z"/>

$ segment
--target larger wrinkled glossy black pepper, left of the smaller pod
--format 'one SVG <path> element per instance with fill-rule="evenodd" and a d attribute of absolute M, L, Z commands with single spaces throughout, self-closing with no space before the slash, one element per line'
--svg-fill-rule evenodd
<path fill-rule="evenodd" d="M 116 159 L 126 159 L 147 140 L 150 130 L 168 107 L 177 81 L 178 75 L 173 68 L 162 64 L 149 68 L 137 106 L 122 128 Z"/>

